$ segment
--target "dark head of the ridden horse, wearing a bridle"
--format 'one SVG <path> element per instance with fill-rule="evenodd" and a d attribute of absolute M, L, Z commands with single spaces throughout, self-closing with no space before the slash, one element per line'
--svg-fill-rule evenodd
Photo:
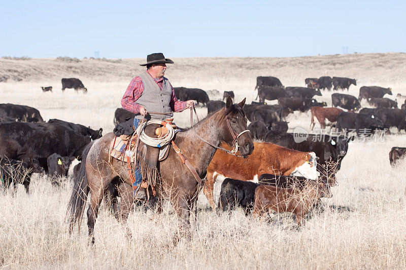
<path fill-rule="evenodd" d="M 232 99 L 228 96 L 221 124 L 224 125 L 222 139 L 231 146 L 236 143 L 241 155 L 246 157 L 254 150 L 254 143 L 248 131 L 244 104 L 245 98 L 240 103 L 232 104 Z"/>

